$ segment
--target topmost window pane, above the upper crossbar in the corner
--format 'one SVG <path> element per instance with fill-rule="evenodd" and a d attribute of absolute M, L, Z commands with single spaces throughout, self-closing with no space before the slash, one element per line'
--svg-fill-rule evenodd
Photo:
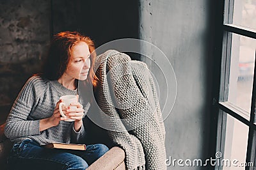
<path fill-rule="evenodd" d="M 232 24 L 256 29 L 256 0 L 234 0 Z"/>

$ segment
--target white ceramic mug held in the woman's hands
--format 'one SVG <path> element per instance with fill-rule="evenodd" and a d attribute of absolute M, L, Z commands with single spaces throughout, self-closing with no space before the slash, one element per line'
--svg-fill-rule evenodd
<path fill-rule="evenodd" d="M 67 118 L 67 116 L 62 111 L 62 106 L 63 105 L 68 106 L 70 104 L 76 104 L 77 103 L 77 97 L 76 97 L 76 95 L 65 95 L 65 96 L 60 97 L 60 99 L 62 100 L 62 102 L 59 105 L 60 114 L 64 118 Z M 74 107 L 74 109 L 77 108 L 76 105 L 73 105 L 73 106 L 70 106 L 70 109 L 72 109 L 72 107 Z M 75 121 L 75 120 L 67 119 L 65 121 Z"/>

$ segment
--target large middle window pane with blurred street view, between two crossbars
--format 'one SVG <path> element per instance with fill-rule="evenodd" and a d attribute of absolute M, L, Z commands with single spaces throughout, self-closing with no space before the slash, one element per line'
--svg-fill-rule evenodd
<path fill-rule="evenodd" d="M 228 102 L 250 115 L 256 40 L 232 34 Z M 241 115 L 243 116 L 243 115 Z"/>

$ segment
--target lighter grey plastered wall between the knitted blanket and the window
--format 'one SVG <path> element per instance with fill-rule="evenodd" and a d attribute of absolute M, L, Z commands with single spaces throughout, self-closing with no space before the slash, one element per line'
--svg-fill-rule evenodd
<path fill-rule="evenodd" d="M 210 0 L 140 1 L 140 38 L 163 50 L 177 77 L 176 102 L 164 121 L 167 157 L 172 157 L 172 160 L 204 159 L 208 154 L 213 58 L 210 3 Z M 163 62 L 154 53 L 150 58 Z M 151 70 L 157 69 L 150 61 L 147 63 Z M 172 69 L 168 65 L 163 66 L 166 67 Z M 159 86 L 166 91 L 163 84 Z M 168 167 L 201 168 L 177 164 Z"/>

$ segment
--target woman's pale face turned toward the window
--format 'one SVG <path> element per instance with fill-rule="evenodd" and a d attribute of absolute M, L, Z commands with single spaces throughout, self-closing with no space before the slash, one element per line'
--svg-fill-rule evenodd
<path fill-rule="evenodd" d="M 65 74 L 70 78 L 84 81 L 89 73 L 90 65 L 89 47 L 85 42 L 79 42 L 72 48 L 70 62 Z"/>

